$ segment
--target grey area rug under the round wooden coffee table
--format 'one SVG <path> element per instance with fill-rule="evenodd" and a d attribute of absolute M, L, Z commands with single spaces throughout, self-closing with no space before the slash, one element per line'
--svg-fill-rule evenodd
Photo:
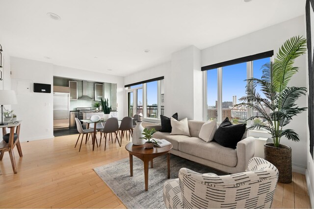
<path fill-rule="evenodd" d="M 170 178 L 178 178 L 182 167 L 199 173 L 225 173 L 211 169 L 205 165 L 194 163 L 186 159 L 171 155 Z M 165 208 L 162 197 L 162 186 L 167 178 L 167 157 L 154 159 L 154 168 L 149 166 L 148 191 L 145 191 L 143 161 L 133 156 L 133 177 L 130 177 L 129 158 L 94 168 L 111 190 L 129 209 L 159 209 Z"/>

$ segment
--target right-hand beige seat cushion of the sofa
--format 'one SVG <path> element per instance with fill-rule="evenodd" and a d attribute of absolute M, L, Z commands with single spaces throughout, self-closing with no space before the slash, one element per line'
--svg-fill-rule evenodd
<path fill-rule="evenodd" d="M 206 142 L 196 137 L 180 140 L 179 151 L 234 167 L 237 163 L 236 149 L 223 147 L 215 141 Z"/>

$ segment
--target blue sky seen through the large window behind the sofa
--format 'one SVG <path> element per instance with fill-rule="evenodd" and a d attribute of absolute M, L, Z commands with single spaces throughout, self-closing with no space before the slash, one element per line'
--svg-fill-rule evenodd
<path fill-rule="evenodd" d="M 269 62 L 270 58 L 253 61 L 253 77 L 262 77 L 262 65 Z M 222 101 L 233 101 L 236 95 L 239 98 L 245 95 L 246 63 L 240 63 L 222 68 Z M 259 91 L 259 88 L 257 88 Z M 207 104 L 215 106 L 217 100 L 217 69 L 207 71 Z"/>

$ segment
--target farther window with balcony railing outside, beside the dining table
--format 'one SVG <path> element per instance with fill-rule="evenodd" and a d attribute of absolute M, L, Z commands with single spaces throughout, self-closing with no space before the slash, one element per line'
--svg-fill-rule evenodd
<path fill-rule="evenodd" d="M 163 77 L 126 86 L 129 116 L 142 114 L 143 118 L 160 118 L 164 110 Z M 132 104 L 132 105 L 131 105 Z"/>

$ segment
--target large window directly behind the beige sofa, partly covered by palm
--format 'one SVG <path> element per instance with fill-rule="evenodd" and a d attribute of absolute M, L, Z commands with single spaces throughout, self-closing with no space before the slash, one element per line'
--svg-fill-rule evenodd
<path fill-rule="evenodd" d="M 248 110 L 246 107 L 235 105 L 239 104 L 239 99 L 245 95 L 247 84 L 245 80 L 252 77 L 261 78 L 262 65 L 268 62 L 270 62 L 270 57 L 253 61 L 245 60 L 245 62 L 240 63 L 235 62 L 236 64 L 233 65 L 228 63 L 226 66 L 223 66 L 223 63 L 221 63 L 222 66 L 218 66 L 219 64 L 212 65 L 218 68 L 205 69 L 205 96 L 207 101 L 205 119 L 212 120 L 216 118 L 218 122 L 222 122 L 226 117 L 229 117 L 234 124 L 248 123 L 250 125 L 251 121 L 245 120 L 253 115 L 259 116 L 259 113 L 251 109 Z M 261 87 L 257 86 L 256 91 L 263 95 Z M 256 118 L 253 122 L 264 123 L 265 121 L 262 118 Z"/>

